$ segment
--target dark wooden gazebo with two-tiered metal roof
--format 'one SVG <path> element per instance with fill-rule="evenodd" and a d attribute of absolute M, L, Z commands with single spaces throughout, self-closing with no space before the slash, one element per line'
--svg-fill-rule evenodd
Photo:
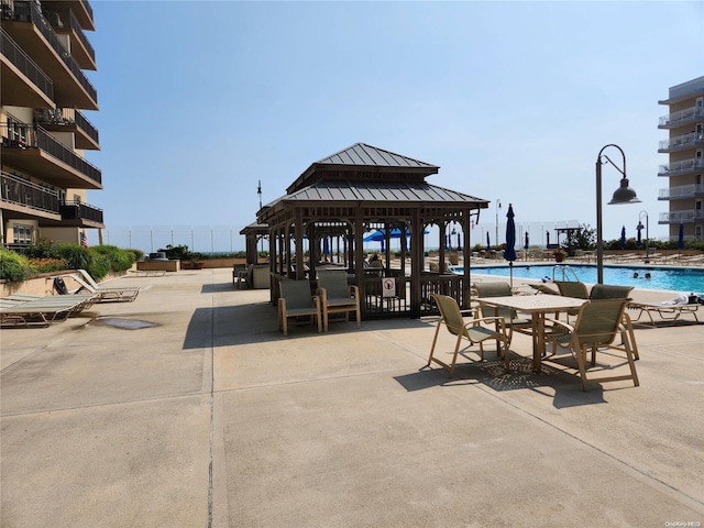
<path fill-rule="evenodd" d="M 364 143 L 356 143 L 312 163 L 286 195 L 257 212 L 257 227 L 270 239 L 272 301 L 283 278 L 316 279 L 316 270 L 341 267 L 360 287 L 362 316 L 420 317 L 435 312 L 431 293 L 450 295 L 469 307 L 470 266 L 448 273 L 448 233 L 460 228 L 464 263 L 469 264 L 472 221 L 488 201 L 430 185 L 439 167 Z M 437 226 L 439 270 L 426 270 L 425 231 Z M 260 228 L 261 229 L 261 228 Z M 369 267 L 365 234 L 385 233 L 383 267 Z M 400 231 L 400 260 L 392 258 L 391 233 Z M 331 248 L 337 243 L 337 252 Z M 458 244 L 460 245 L 460 244 Z M 332 262 L 328 254 L 337 255 Z M 389 293 L 389 284 L 392 285 Z"/>

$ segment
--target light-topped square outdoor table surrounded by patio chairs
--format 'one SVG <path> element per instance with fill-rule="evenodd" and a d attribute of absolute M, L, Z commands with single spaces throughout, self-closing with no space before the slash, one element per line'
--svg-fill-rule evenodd
<path fill-rule="evenodd" d="M 541 372 L 541 360 L 546 354 L 546 314 L 558 314 L 580 308 L 587 299 L 563 297 L 561 295 L 509 295 L 505 297 L 481 297 L 476 299 L 482 307 L 509 308 L 531 315 L 532 370 Z"/>

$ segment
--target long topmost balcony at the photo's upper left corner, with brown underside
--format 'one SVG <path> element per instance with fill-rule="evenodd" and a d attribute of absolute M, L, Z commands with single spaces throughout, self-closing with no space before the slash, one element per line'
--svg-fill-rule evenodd
<path fill-rule="evenodd" d="M 34 2 L 3 3 L 2 26 L 54 84 L 54 100 L 63 107 L 98 110 L 98 92 L 68 53 Z"/>

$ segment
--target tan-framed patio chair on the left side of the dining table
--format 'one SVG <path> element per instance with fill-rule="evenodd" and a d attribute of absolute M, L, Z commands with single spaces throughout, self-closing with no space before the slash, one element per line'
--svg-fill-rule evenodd
<path fill-rule="evenodd" d="M 450 376 L 454 375 L 454 365 L 458 361 L 458 354 L 460 353 L 460 344 L 462 343 L 462 339 L 466 339 L 470 342 L 468 346 L 471 346 L 472 344 L 480 345 L 479 354 L 482 361 L 484 361 L 484 341 L 495 340 L 497 343 L 504 343 L 504 364 L 506 365 L 506 370 L 509 370 L 508 345 L 510 338 L 507 333 L 503 317 L 483 317 L 470 319 L 468 321 L 464 319 L 463 312 L 460 311 L 460 307 L 452 297 L 440 294 L 430 294 L 430 297 L 436 301 L 438 310 L 440 310 L 440 320 L 436 327 L 436 334 L 432 338 L 432 346 L 430 348 L 428 364 L 424 369 L 427 369 L 432 362 L 435 362 L 448 371 Z M 436 344 L 438 342 L 438 334 L 440 333 L 441 327 L 447 328 L 448 332 L 452 336 L 457 336 L 458 338 L 454 343 L 452 361 L 449 364 L 435 356 Z M 501 353 L 501 346 L 498 350 L 498 353 Z"/>

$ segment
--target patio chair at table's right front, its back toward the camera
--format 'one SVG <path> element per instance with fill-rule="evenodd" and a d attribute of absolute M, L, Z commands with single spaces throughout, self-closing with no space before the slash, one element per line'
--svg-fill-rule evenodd
<path fill-rule="evenodd" d="M 635 386 L 640 384 L 631 350 L 631 343 L 635 343 L 635 341 L 631 341 L 632 336 L 629 339 L 628 330 L 624 326 L 624 312 L 627 305 L 628 299 L 592 300 L 582 306 L 573 326 L 561 321 L 552 321 L 554 323 L 552 333 L 547 334 L 546 338 L 553 343 L 556 350 L 559 350 L 559 348 L 570 350 L 576 360 L 584 391 L 588 389 L 587 385 L 591 383 L 632 380 Z M 622 343 L 616 345 L 615 341 L 618 337 L 622 338 Z M 590 350 L 592 352 L 592 367 L 596 365 L 597 352 L 605 350 L 624 352 L 630 374 L 587 377 L 586 353 Z M 615 356 L 613 353 L 608 355 L 610 358 Z M 617 367 L 618 365 L 608 364 L 600 372 L 613 371 Z"/>

